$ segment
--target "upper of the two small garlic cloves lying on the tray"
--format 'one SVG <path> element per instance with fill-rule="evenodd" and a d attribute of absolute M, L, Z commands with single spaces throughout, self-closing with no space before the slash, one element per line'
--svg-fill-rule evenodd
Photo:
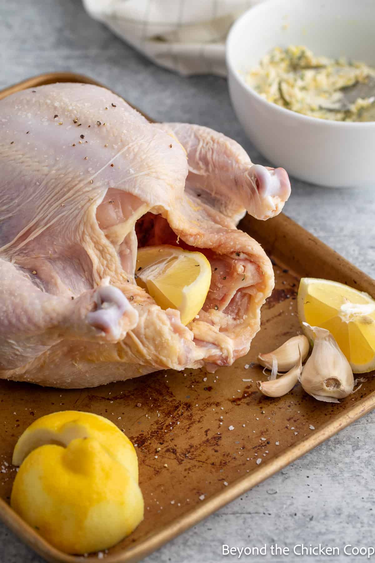
<path fill-rule="evenodd" d="M 279 348 L 269 354 L 259 354 L 257 361 L 265 368 L 272 369 L 273 360 L 277 360 L 277 369 L 279 372 L 287 372 L 292 369 L 300 358 L 305 361 L 309 354 L 310 343 L 304 334 L 293 336 L 284 342 Z"/>

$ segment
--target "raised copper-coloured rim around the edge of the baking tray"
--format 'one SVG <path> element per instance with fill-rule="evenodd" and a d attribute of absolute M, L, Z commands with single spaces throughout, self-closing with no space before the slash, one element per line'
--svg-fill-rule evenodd
<path fill-rule="evenodd" d="M 71 72 L 44 73 L 3 88 L 0 90 L 0 99 L 10 95 L 11 93 L 24 90 L 25 88 L 55 82 L 84 82 L 103 86 L 100 82 L 82 74 Z M 291 218 L 284 215 L 284 213 L 281 213 L 278 217 L 279 221 L 281 221 L 284 226 L 288 227 L 290 230 L 293 230 L 295 234 L 308 234 L 308 241 L 315 248 L 320 247 L 323 250 L 329 249 L 330 252 L 333 252 L 333 259 L 336 260 L 336 262 L 340 262 L 341 267 L 344 266 L 345 269 L 350 272 L 351 276 L 360 276 L 366 285 L 374 286 L 374 280 L 370 278 L 370 276 L 354 266 L 351 262 L 347 261 L 336 251 L 333 251 L 331 247 L 328 247 L 328 245 L 324 244 L 308 230 L 304 229 L 304 227 L 301 227 Z M 193 525 L 205 519 L 211 513 L 219 510 L 219 508 L 222 508 L 225 504 L 233 501 L 235 498 L 250 490 L 255 485 L 258 485 L 277 471 L 282 470 L 288 464 L 296 461 L 296 459 L 300 458 L 305 453 L 310 452 L 310 450 L 314 449 L 319 444 L 322 444 L 323 441 L 337 434 L 337 432 L 346 428 L 352 422 L 356 421 L 358 418 L 367 414 L 374 408 L 375 391 L 358 401 L 355 405 L 350 406 L 345 413 L 337 414 L 333 419 L 331 419 L 331 421 L 322 425 L 319 430 L 315 430 L 311 433 L 311 435 L 306 436 L 300 443 L 291 446 L 285 452 L 277 455 L 269 462 L 255 468 L 255 470 L 253 470 L 248 476 L 238 477 L 238 479 L 233 481 L 233 483 L 225 488 L 225 490 L 214 494 L 212 497 L 202 502 L 200 506 L 192 508 L 183 516 L 175 519 L 171 524 L 165 524 L 159 531 L 148 535 L 148 537 L 144 540 L 140 540 L 136 546 L 127 548 L 123 553 L 107 555 L 105 558 L 106 561 L 108 563 L 136 563 L 143 557 L 146 557 L 156 549 L 160 548 L 163 544 L 175 538 L 177 535 L 183 533 L 183 531 L 186 531 L 188 528 L 191 528 Z M 50 561 L 51 563 L 77 563 L 77 561 L 82 561 L 82 556 L 67 555 L 66 553 L 63 553 L 51 546 L 51 544 L 40 537 L 35 530 L 31 528 L 31 526 L 26 524 L 26 522 L 24 522 L 20 516 L 12 510 L 10 505 L 1 498 L 0 520 L 3 521 L 4 524 L 6 524 L 8 528 L 10 528 L 24 543 L 28 544 L 29 547 L 34 549 L 35 552 L 44 557 L 47 561 Z"/>

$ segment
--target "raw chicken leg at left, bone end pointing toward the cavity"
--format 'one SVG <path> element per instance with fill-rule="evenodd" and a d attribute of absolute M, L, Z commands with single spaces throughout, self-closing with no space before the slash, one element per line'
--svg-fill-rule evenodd
<path fill-rule="evenodd" d="M 55 296 L 0 260 L 0 319 L 0 368 L 14 369 L 62 339 L 119 341 L 137 325 L 138 312 L 118 288 L 102 286 L 74 300 Z"/>

